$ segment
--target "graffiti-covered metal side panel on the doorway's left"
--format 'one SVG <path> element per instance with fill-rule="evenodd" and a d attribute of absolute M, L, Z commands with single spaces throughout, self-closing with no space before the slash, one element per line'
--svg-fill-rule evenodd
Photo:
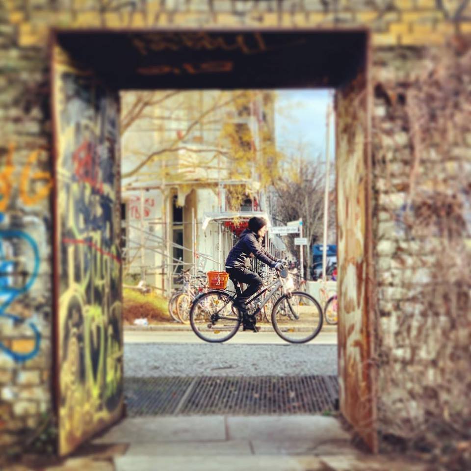
<path fill-rule="evenodd" d="M 123 411 L 119 96 L 52 50 L 59 453 Z"/>

